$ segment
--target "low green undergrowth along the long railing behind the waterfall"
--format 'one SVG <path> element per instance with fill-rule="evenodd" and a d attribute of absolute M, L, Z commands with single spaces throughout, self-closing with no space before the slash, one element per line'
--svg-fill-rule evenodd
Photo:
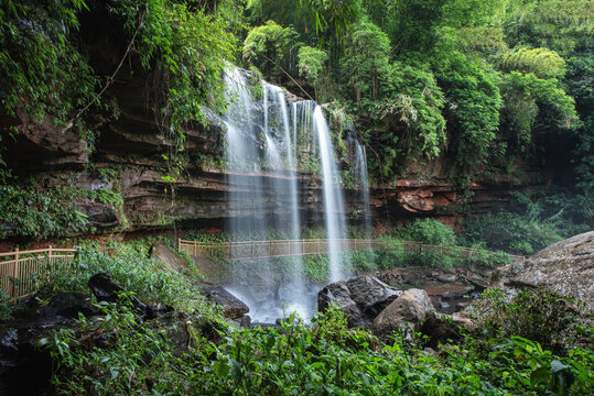
<path fill-rule="evenodd" d="M 324 239 L 325 231 L 322 228 L 309 228 L 303 230 L 304 239 Z M 364 239 L 365 230 L 360 228 L 349 228 L 348 237 Z M 187 231 L 184 239 L 198 242 L 228 242 L 228 241 L 268 241 L 290 239 L 290 235 L 278 230 L 268 230 L 260 233 L 230 234 L 201 233 L 199 231 Z M 415 241 L 432 245 L 443 245 L 444 252 L 410 252 L 406 251 L 402 240 Z M 409 224 L 397 228 L 395 231 L 380 237 L 378 241 L 387 246 L 386 249 L 366 248 L 360 251 L 341 253 L 341 271 L 345 274 L 376 272 L 407 266 L 425 266 L 433 268 L 496 268 L 511 262 L 512 257 L 505 252 L 489 252 L 484 250 L 484 245 L 475 244 L 471 254 L 457 249 L 458 238 L 452 228 L 433 219 L 419 219 Z M 220 265 L 226 265 L 225 250 L 215 250 L 215 261 Z M 295 257 L 274 257 L 269 260 L 271 267 L 281 274 L 293 274 L 295 261 L 301 261 L 303 275 L 306 280 L 318 283 L 324 282 L 330 276 L 330 257 L 327 254 L 304 255 Z"/>

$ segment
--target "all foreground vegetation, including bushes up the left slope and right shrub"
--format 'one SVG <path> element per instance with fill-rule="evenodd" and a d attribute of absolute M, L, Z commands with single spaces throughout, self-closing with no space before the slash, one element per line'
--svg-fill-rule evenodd
<path fill-rule="evenodd" d="M 115 248 L 111 257 L 84 246 L 74 271 L 53 272 L 44 295 L 52 294 L 47 287 L 84 290 L 90 274 L 108 272 L 144 301 L 174 304 L 190 315 L 181 322 L 177 315 L 142 322 L 126 304 L 129 295 L 117 305 L 98 304 L 99 317 L 79 317 L 39 343 L 53 356 L 57 394 L 536 396 L 585 395 L 594 384 L 592 327 L 566 298 L 527 292 L 507 310 L 484 316 L 463 343 L 435 354 L 423 350 L 422 337 L 410 344 L 397 332 L 384 342 L 347 329 L 336 310 L 317 314 L 311 327 L 289 317 L 276 329 L 238 329 L 191 293 L 186 277 L 147 258 L 143 248 Z M 543 301 L 552 310 L 546 328 L 534 328 L 547 312 L 533 308 Z M 518 310 L 527 315 L 507 326 Z M 186 346 L 174 341 L 179 326 L 191 334 Z M 557 336 L 565 341 L 559 344 Z"/>

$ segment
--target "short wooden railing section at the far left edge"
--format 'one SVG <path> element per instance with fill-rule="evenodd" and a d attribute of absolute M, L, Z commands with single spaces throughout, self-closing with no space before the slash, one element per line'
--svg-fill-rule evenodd
<path fill-rule="evenodd" d="M 67 265 L 78 251 L 76 249 L 46 249 L 0 253 L 0 288 L 8 297 L 20 298 L 35 292 L 39 280 L 48 275 L 56 264 Z"/>

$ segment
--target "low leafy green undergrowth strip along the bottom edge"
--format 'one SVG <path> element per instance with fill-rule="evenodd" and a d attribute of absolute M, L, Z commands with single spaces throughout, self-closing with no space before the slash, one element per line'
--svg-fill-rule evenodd
<path fill-rule="evenodd" d="M 594 381 L 591 351 L 558 356 L 521 337 L 468 339 L 433 354 L 398 334 L 384 344 L 347 329 L 330 310 L 312 327 L 294 317 L 276 329 L 215 321 L 215 334 L 188 320 L 193 336 L 180 351 L 171 328 L 140 326 L 130 309 L 101 309 L 105 320 L 82 317 L 40 342 L 54 358 L 58 394 L 585 395 Z M 99 333 L 102 344 L 88 341 Z"/>

